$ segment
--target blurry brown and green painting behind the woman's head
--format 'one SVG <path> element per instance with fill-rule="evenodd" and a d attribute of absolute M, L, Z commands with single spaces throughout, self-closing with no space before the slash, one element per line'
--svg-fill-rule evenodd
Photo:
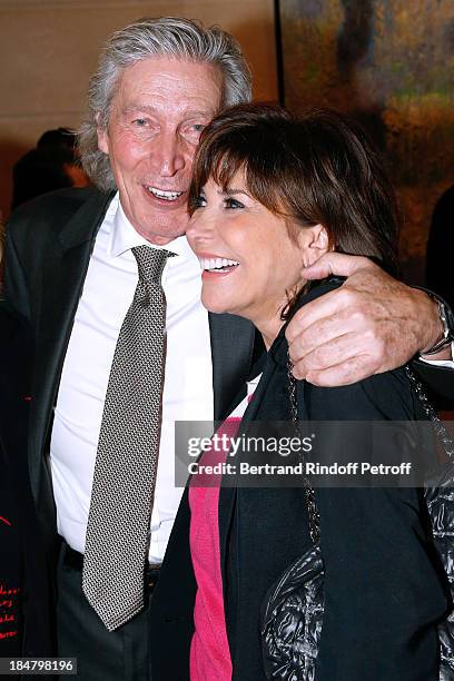
<path fill-rule="evenodd" d="M 280 0 L 280 28 L 285 103 L 368 127 L 404 214 L 403 274 L 422 282 L 432 210 L 454 182 L 454 1 Z"/>

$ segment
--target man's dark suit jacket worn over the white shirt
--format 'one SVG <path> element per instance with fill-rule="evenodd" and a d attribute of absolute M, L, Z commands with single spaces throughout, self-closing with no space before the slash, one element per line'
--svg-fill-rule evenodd
<path fill-rule="evenodd" d="M 31 488 L 52 560 L 58 549 L 48 456 L 52 407 L 90 254 L 111 197 L 96 189 L 52 193 L 19 208 L 8 225 L 6 296 L 30 320 L 36 334 L 28 460 Z M 256 335 L 249 322 L 231 315 L 210 315 L 209 325 L 215 418 L 219 420 L 249 372 Z M 169 551 L 175 551 L 172 542 Z M 179 583 L 178 565 L 168 575 L 164 565 L 160 581 Z M 154 598 L 155 609 L 156 621 L 160 622 L 158 598 Z M 186 621 L 182 629 L 186 632 Z M 176 664 L 175 673 L 162 678 L 177 681 L 179 664 L 185 673 L 187 667 L 171 647 L 159 648 L 159 636 L 155 641 L 159 652 Z"/>

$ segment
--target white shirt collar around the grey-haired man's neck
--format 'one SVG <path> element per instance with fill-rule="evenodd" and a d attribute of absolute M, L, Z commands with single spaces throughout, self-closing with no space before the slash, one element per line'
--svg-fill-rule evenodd
<path fill-rule="evenodd" d="M 119 200 L 118 191 L 115 195 L 112 203 L 110 205 L 112 213 L 115 211 L 112 218 L 112 229 L 110 231 L 110 240 L 108 246 L 108 254 L 111 257 L 118 257 L 126 253 L 127 250 L 131 250 L 136 246 L 149 246 L 150 248 L 164 248 L 166 250 L 170 250 L 175 253 L 177 256 L 191 257 L 194 258 L 193 250 L 186 239 L 185 236 L 177 237 L 172 239 L 165 246 L 158 246 L 156 244 L 150 244 L 144 238 L 136 229 L 132 227 L 131 223 L 127 218 L 125 210 Z M 177 258 L 171 258 L 175 260 Z"/>

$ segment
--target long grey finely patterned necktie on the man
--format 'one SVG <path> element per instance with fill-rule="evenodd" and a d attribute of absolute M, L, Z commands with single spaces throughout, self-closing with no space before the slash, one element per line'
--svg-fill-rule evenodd
<path fill-rule="evenodd" d="M 110 368 L 96 455 L 82 589 L 109 631 L 144 608 L 165 361 L 161 275 L 175 254 L 132 248 L 139 280 Z"/>

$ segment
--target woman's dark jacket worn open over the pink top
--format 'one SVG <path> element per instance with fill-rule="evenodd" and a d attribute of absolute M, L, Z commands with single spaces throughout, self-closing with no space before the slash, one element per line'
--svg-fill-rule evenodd
<path fill-rule="evenodd" d="M 326 290 L 314 289 L 306 298 Z M 287 344 L 279 335 L 263 377 L 243 418 L 288 421 Z M 243 395 L 238 396 L 238 401 Z M 353 386 L 317 388 L 298 383 L 302 420 L 376 421 L 421 417 L 417 401 L 402 371 L 374 376 Z M 365 458 L 368 443 L 332 452 L 334 461 Z M 363 450 L 364 447 L 364 450 Z M 345 447 L 344 447 L 345 450 Z M 405 457 L 404 457 L 405 458 Z M 317 681 L 435 681 L 438 641 L 435 623 L 447 611 L 444 575 L 427 539 L 426 512 L 414 488 L 317 490 L 322 550 L 326 566 L 325 616 Z M 194 574 L 188 544 L 187 494 L 180 505 L 166 561 L 175 561 L 178 586 L 161 582 L 156 598 L 164 614 L 151 636 L 172 640 L 187 660 L 193 633 Z M 309 546 L 303 488 L 229 488 L 219 497 L 219 537 L 227 633 L 234 680 L 265 679 L 259 612 L 270 585 Z M 185 563 L 185 561 L 188 561 Z M 177 622 L 187 622 L 187 640 Z M 157 658 L 158 679 L 168 660 Z M 188 669 L 188 668 L 187 668 Z M 181 674 L 176 679 L 188 679 Z"/>

